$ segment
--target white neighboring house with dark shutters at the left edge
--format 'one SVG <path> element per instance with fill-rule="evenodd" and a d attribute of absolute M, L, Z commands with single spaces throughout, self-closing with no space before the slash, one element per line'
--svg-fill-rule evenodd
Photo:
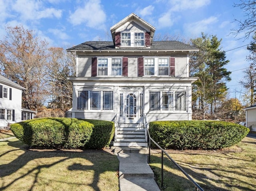
<path fill-rule="evenodd" d="M 22 90 L 25 88 L 0 75 L 0 128 L 20 122 L 24 119 L 24 112 L 29 113 L 29 118 L 36 113 L 21 107 Z"/>

